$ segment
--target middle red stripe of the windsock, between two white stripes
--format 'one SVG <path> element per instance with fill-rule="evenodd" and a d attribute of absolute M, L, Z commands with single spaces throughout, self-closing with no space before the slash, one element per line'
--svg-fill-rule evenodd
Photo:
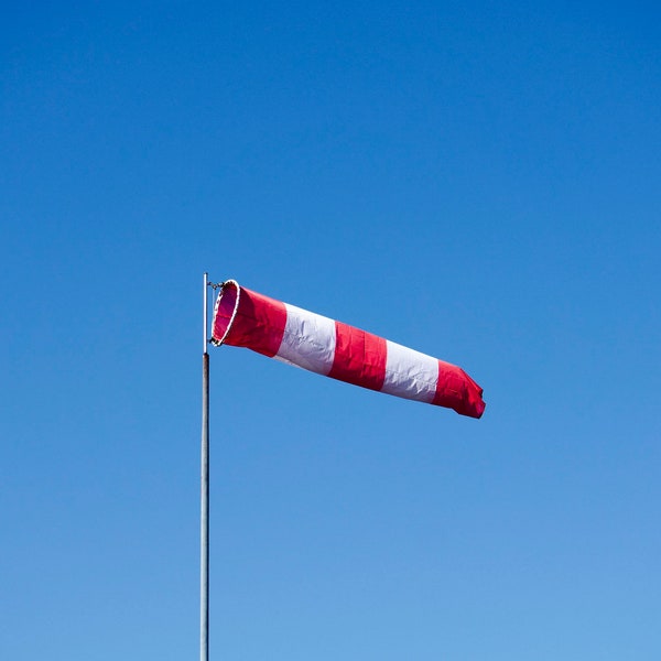
<path fill-rule="evenodd" d="M 381 390 L 386 378 L 386 340 L 335 322 L 335 358 L 328 376 L 354 386 Z"/>

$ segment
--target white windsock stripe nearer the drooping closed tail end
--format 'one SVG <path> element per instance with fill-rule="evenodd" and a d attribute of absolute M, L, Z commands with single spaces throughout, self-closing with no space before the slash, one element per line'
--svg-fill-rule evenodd
<path fill-rule="evenodd" d="M 436 394 L 438 360 L 386 340 L 386 379 L 381 392 L 431 403 Z"/>

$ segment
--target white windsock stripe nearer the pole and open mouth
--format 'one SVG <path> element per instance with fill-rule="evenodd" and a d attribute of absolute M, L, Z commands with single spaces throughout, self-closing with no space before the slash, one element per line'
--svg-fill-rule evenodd
<path fill-rule="evenodd" d="M 278 360 L 327 375 L 335 358 L 335 321 L 285 303 L 286 325 Z"/>

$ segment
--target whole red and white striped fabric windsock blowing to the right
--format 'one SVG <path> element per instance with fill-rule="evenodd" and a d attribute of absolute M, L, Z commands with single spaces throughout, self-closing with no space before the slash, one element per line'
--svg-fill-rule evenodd
<path fill-rule="evenodd" d="M 270 358 L 355 386 L 480 418 L 483 389 L 460 368 L 371 333 L 247 290 L 223 284 L 212 343 Z"/>

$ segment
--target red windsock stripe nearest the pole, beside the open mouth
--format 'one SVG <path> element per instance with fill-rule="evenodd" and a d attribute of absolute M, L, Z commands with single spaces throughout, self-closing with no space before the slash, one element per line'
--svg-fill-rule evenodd
<path fill-rule="evenodd" d="M 231 293 L 227 293 L 230 294 L 231 299 Z M 226 293 L 224 292 L 223 295 L 225 296 Z M 239 308 L 225 344 L 235 347 L 248 347 L 258 354 L 272 358 L 278 354 L 278 349 L 282 344 L 286 324 L 284 303 L 251 292 L 243 286 L 239 296 Z M 236 293 L 234 300 L 236 301 Z M 220 308 L 224 307 L 224 301 L 221 300 L 220 303 L 219 313 Z M 234 310 L 234 301 L 231 306 Z"/>

